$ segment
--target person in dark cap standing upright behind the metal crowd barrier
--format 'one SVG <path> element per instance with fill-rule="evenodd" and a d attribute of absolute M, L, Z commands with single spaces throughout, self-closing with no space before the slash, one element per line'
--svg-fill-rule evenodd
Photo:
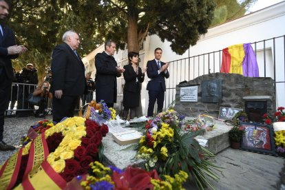
<path fill-rule="evenodd" d="M 38 74 L 36 73 L 36 69 L 32 63 L 28 63 L 21 72 L 17 74 L 17 82 L 19 84 L 19 93 L 18 93 L 18 103 L 17 109 L 21 111 L 17 111 L 17 116 L 32 116 L 32 112 L 34 109 L 33 105 L 28 105 L 29 94 L 32 93 L 35 89 L 35 85 L 38 84 Z M 25 110 L 30 109 L 30 111 Z"/>

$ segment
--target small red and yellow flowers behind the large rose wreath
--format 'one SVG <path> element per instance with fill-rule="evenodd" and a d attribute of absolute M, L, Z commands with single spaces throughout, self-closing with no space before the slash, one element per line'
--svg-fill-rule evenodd
<path fill-rule="evenodd" d="M 32 133 L 37 136 L 38 134 L 42 134 L 45 130 L 50 129 L 50 127 L 54 127 L 54 123 L 51 120 L 40 120 L 36 123 L 36 125 L 33 125 L 30 130 L 32 130 Z M 30 131 L 29 130 L 29 131 Z M 22 136 L 20 140 L 20 145 L 27 145 L 28 142 L 30 142 L 34 136 L 30 135 L 28 131 L 27 136 Z"/>

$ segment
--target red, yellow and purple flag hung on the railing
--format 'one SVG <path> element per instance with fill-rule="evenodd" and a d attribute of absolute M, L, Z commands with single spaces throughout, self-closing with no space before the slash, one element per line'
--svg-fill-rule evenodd
<path fill-rule="evenodd" d="M 221 72 L 259 77 L 259 70 L 251 43 L 231 45 L 222 50 Z"/>

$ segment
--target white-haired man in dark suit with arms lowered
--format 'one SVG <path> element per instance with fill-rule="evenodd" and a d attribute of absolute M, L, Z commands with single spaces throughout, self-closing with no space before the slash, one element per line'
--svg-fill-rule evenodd
<path fill-rule="evenodd" d="M 52 120 L 73 117 L 79 96 L 87 94 L 85 67 L 77 54 L 79 36 L 70 30 L 52 51 Z"/>

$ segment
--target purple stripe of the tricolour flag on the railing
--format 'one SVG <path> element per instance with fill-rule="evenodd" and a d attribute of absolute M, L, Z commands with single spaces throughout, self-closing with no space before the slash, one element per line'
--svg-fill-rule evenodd
<path fill-rule="evenodd" d="M 242 73 L 244 76 L 259 77 L 260 72 L 251 43 L 244 43 L 244 61 L 242 61 Z"/>

